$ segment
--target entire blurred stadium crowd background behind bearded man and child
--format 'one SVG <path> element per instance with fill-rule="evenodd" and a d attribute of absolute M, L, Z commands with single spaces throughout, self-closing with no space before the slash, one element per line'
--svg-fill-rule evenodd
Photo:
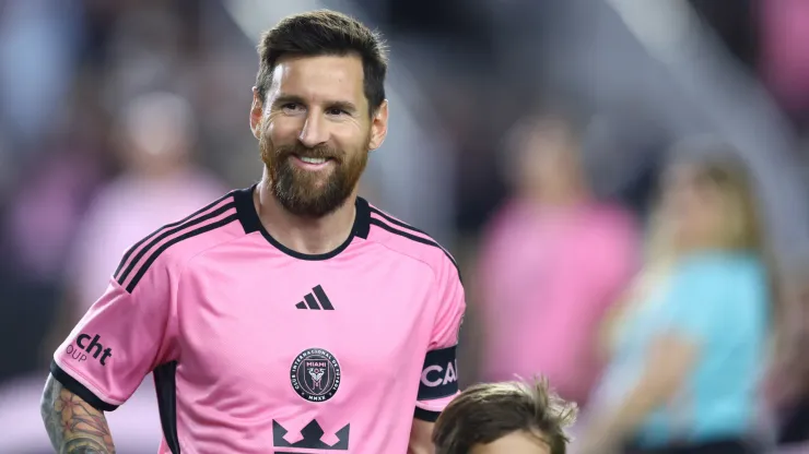
<path fill-rule="evenodd" d="M 125 249 L 260 178 L 258 36 L 319 8 L 390 45 L 362 192 L 461 264 L 462 386 L 543 373 L 609 419 L 642 313 L 701 340 L 678 390 L 736 390 L 701 413 L 809 452 L 809 2 L 0 0 L 1 453 L 49 452 L 49 357 Z M 148 381 L 109 420 L 155 452 Z"/>

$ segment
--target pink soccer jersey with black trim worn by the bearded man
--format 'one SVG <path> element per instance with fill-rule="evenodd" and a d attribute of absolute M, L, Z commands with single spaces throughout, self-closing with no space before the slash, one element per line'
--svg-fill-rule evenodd
<path fill-rule="evenodd" d="M 162 454 L 404 453 L 458 392 L 455 262 L 359 198 L 341 247 L 301 254 L 254 190 L 127 251 L 51 373 L 105 411 L 153 373 Z"/>

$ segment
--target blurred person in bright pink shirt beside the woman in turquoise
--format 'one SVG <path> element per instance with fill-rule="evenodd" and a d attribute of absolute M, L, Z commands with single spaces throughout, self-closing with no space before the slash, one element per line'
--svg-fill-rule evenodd
<path fill-rule="evenodd" d="M 590 193 L 571 117 L 514 131 L 516 193 L 491 222 L 478 267 L 482 379 L 539 373 L 584 406 L 599 372 L 593 333 L 636 271 L 635 225 Z"/>

